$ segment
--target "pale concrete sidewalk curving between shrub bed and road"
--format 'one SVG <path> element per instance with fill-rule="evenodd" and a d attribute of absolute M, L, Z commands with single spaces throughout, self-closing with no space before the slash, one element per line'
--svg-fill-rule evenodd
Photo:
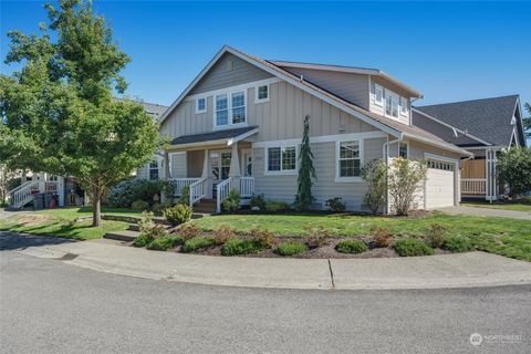
<path fill-rule="evenodd" d="M 2 249 L 96 271 L 211 285 L 284 289 L 444 289 L 531 283 L 531 263 L 483 252 L 382 259 L 192 256 L 0 232 Z M 15 242 L 22 243 L 15 244 Z M 25 244 L 23 244 L 25 242 Z"/>

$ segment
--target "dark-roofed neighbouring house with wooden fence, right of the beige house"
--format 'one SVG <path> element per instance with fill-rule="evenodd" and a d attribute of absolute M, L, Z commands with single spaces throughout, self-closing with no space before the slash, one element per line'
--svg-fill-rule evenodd
<path fill-rule="evenodd" d="M 496 200 L 507 192 L 496 177 L 496 157 L 525 146 L 518 95 L 414 107 L 413 124 L 473 153 L 461 162 L 464 198 Z"/>

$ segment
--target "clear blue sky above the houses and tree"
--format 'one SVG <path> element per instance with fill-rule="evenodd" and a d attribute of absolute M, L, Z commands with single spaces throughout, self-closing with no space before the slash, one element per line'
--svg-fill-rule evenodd
<path fill-rule="evenodd" d="M 223 44 L 266 59 L 377 67 L 423 92 L 418 105 L 508 94 L 531 102 L 529 2 L 94 3 L 133 59 L 127 93 L 147 102 L 169 105 Z M 37 32 L 42 4 L 2 0 L 2 60 L 6 32 Z"/>

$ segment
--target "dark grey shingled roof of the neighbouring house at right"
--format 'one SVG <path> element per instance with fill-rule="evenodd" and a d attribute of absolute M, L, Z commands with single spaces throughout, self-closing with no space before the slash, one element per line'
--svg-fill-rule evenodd
<path fill-rule="evenodd" d="M 468 132 L 493 145 L 511 142 L 518 95 L 416 107 L 458 129 Z"/>

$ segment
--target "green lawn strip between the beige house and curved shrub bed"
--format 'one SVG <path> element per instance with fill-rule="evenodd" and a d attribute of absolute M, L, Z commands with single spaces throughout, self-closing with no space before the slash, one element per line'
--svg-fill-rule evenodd
<path fill-rule="evenodd" d="M 508 218 L 482 218 L 436 214 L 426 218 L 386 218 L 334 215 L 223 215 L 199 219 L 204 230 L 229 225 L 239 232 L 269 229 L 278 236 L 308 235 L 306 228 L 323 227 L 337 236 L 367 235 L 386 227 L 396 236 L 424 236 L 431 223 L 448 228 L 448 235 L 469 237 L 478 250 L 531 261 L 531 222 Z M 302 232 L 301 232 L 302 231 Z"/>

